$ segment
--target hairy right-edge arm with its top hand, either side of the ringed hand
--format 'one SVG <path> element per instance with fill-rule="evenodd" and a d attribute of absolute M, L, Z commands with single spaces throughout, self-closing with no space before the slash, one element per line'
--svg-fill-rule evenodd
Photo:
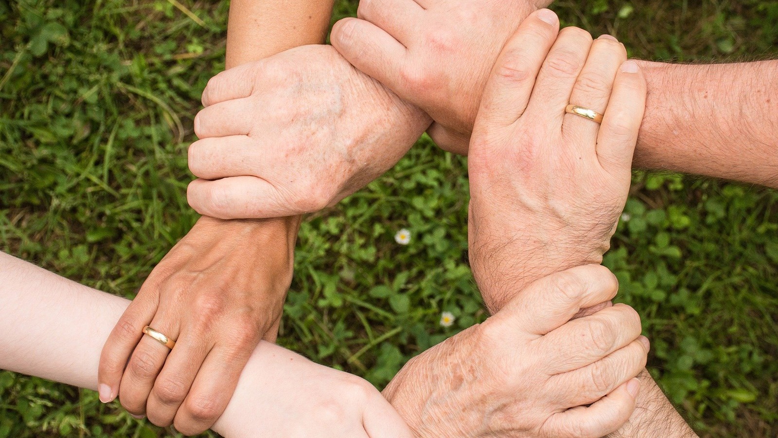
<path fill-rule="evenodd" d="M 359 19 L 336 23 L 331 41 L 358 69 L 432 116 L 429 134 L 440 147 L 467 154 L 500 48 L 521 19 L 550 3 L 363 0 Z M 778 187 L 778 62 L 638 64 L 648 98 L 636 167 Z"/>

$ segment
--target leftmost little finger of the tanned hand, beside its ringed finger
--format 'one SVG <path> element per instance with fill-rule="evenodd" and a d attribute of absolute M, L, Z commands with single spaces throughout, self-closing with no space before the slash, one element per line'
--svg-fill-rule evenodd
<path fill-rule="evenodd" d="M 119 394 L 121 376 L 124 375 L 132 351 L 143 336 L 143 327 L 151 322 L 156 313 L 158 297 L 152 291 L 142 288 L 114 330 L 111 330 L 100 353 L 100 366 L 97 369 L 98 392 L 103 403 L 114 401 Z"/>

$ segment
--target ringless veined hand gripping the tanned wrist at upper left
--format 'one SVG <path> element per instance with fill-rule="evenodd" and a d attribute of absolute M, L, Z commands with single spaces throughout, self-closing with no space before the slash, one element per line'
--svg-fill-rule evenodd
<path fill-rule="evenodd" d="M 334 205 L 397 163 L 430 122 L 325 45 L 221 72 L 202 101 L 188 199 L 223 219 Z"/>

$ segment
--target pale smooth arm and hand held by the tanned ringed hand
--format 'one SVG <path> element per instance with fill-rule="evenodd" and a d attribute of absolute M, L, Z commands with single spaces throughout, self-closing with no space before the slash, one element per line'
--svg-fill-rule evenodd
<path fill-rule="evenodd" d="M 97 389 L 100 349 L 129 301 L 0 253 L 0 369 Z M 213 429 L 228 438 L 411 438 L 366 380 L 267 341 Z"/>

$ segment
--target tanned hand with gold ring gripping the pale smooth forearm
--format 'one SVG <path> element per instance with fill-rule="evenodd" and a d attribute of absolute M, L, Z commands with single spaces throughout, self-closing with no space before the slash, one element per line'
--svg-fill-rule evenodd
<path fill-rule="evenodd" d="M 202 433 L 219 418 L 251 351 L 275 341 L 292 279 L 296 219 L 202 217 L 159 262 L 100 357 L 100 400 L 157 426 Z M 144 336 L 149 325 L 173 351 Z"/>

